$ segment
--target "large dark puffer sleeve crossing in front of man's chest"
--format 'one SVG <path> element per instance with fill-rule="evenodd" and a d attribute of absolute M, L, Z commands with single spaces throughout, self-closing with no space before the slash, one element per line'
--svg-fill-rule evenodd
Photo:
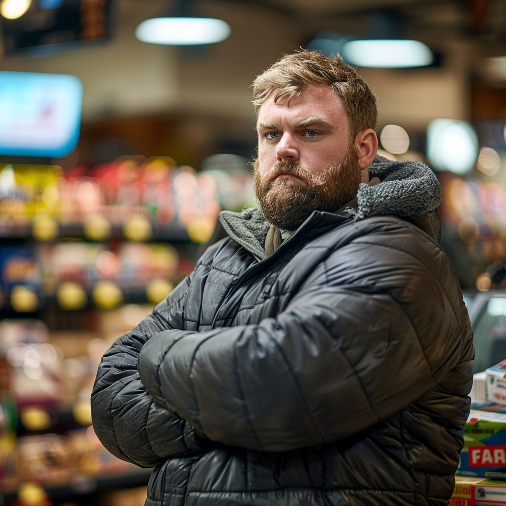
<path fill-rule="evenodd" d="M 450 301 L 437 277 L 404 251 L 352 244 L 276 318 L 154 336 L 141 380 L 227 445 L 284 451 L 340 440 L 415 401 L 458 361 L 459 289 Z"/>

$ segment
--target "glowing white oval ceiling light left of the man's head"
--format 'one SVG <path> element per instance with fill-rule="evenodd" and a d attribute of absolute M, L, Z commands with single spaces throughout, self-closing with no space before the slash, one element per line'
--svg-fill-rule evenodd
<path fill-rule="evenodd" d="M 212 18 L 152 18 L 143 21 L 135 36 L 150 44 L 195 46 L 214 44 L 230 35 L 230 26 Z"/>

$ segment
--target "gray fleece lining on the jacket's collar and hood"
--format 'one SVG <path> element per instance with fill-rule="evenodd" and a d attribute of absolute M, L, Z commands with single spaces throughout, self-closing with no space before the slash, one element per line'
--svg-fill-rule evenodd
<path fill-rule="evenodd" d="M 361 183 L 357 207 L 346 209 L 355 220 L 371 216 L 415 217 L 428 213 L 441 203 L 441 186 L 432 170 L 419 161 L 391 161 L 376 155 L 369 166 L 369 178 L 381 183 Z M 265 258 L 265 237 L 270 223 L 262 209 L 252 207 L 241 213 L 222 211 L 220 222 L 227 233 L 258 258 Z"/>

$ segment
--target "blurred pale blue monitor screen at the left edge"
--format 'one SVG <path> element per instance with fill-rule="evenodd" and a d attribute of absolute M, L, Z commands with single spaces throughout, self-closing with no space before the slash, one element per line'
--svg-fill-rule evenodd
<path fill-rule="evenodd" d="M 79 140 L 75 75 L 0 71 L 0 155 L 60 158 Z"/>

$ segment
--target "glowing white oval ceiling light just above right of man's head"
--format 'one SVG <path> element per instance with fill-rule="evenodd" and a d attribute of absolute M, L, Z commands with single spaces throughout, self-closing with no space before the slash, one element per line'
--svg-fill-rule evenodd
<path fill-rule="evenodd" d="M 350 40 L 343 56 L 353 65 L 376 68 L 425 67 L 434 57 L 418 40 Z"/>

